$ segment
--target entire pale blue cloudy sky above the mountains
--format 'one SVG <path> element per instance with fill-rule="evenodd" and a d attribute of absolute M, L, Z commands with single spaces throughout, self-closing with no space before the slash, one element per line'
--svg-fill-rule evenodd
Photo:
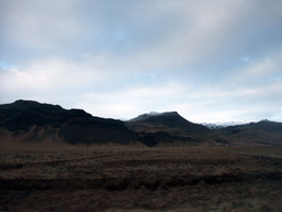
<path fill-rule="evenodd" d="M 282 121 L 280 0 L 0 0 L 0 104 Z"/>

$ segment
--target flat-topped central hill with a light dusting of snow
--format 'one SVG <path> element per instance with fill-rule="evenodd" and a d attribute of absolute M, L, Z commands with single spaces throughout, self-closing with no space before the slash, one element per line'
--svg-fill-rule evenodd
<path fill-rule="evenodd" d="M 203 125 L 186 120 L 177 112 L 142 114 L 128 120 L 126 126 L 139 132 L 141 141 L 148 146 L 200 145 L 212 132 Z"/>

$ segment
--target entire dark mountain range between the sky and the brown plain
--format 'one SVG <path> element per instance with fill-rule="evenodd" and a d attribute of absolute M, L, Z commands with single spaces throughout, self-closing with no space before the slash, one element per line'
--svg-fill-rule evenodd
<path fill-rule="evenodd" d="M 121 121 L 95 117 L 83 109 L 34 100 L 0 105 L 0 142 L 181 145 L 281 145 L 282 123 L 207 127 L 177 112 L 150 113 Z"/>

